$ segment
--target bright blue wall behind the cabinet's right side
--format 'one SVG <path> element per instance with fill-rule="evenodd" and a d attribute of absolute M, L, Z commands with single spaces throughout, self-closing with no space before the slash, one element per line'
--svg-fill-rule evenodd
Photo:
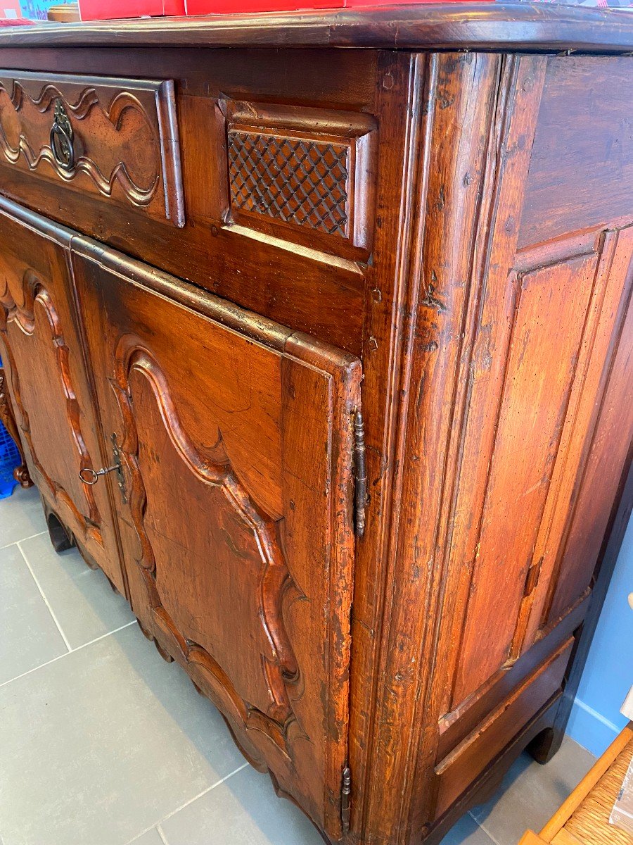
<path fill-rule="evenodd" d="M 630 592 L 633 592 L 633 518 L 615 564 L 567 726 L 567 733 L 597 756 L 627 722 L 619 708 L 633 686 Z"/>

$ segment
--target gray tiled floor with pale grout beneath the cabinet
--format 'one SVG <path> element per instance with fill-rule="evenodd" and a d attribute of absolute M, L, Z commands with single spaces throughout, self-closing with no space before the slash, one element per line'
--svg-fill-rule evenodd
<path fill-rule="evenodd" d="M 322 845 L 246 767 L 214 707 L 73 551 L 35 490 L 0 501 L 0 845 Z M 516 845 L 592 755 L 523 756 L 443 845 Z"/>

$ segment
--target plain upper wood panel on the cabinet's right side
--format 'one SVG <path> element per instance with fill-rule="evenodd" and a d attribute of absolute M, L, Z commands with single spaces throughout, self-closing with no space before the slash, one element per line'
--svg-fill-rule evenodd
<path fill-rule="evenodd" d="M 631 97 L 628 57 L 548 59 L 520 246 L 630 220 Z M 580 162 L 584 177 L 579 180 Z M 604 181 L 607 191 L 601 187 Z"/>

